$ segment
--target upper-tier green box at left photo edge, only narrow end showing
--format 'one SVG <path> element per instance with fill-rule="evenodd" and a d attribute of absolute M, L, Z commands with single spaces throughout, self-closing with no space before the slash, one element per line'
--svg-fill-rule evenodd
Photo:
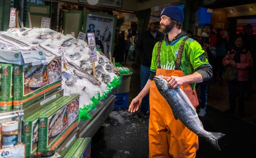
<path fill-rule="evenodd" d="M 12 64 L 2 64 L 1 66 L 1 91 L 0 91 L 0 110 L 11 110 L 13 105 L 12 88 Z"/>

